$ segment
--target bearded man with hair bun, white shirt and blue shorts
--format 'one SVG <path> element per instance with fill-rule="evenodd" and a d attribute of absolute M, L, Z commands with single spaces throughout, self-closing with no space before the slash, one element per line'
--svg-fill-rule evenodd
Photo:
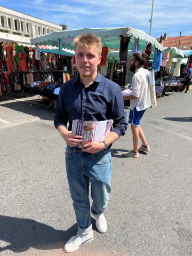
<path fill-rule="evenodd" d="M 124 96 L 124 100 L 130 100 L 130 115 L 129 124 L 133 134 L 133 150 L 124 153 L 126 157 L 139 157 L 139 151 L 150 151 L 145 138 L 145 134 L 140 127 L 141 117 L 145 110 L 151 106 L 150 101 L 150 85 L 149 71 L 143 68 L 146 60 L 146 53 L 134 53 L 130 59 L 130 71 L 135 74 L 132 78 L 132 94 Z M 142 141 L 142 146 L 139 148 L 139 138 Z"/>

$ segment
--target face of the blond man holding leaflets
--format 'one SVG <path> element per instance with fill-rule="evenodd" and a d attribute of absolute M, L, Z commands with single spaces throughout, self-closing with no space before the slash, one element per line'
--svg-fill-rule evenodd
<path fill-rule="evenodd" d="M 77 45 L 75 60 L 79 74 L 83 77 L 90 77 L 97 73 L 97 66 L 101 61 L 101 55 L 99 56 L 95 45 L 89 49 Z"/>

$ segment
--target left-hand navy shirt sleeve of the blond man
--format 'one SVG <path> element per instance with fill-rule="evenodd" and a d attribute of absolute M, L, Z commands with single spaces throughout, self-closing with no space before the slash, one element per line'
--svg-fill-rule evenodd
<path fill-rule="evenodd" d="M 68 113 L 65 108 L 65 102 L 64 102 L 64 85 L 61 86 L 61 89 L 59 91 L 56 109 L 55 109 L 55 115 L 54 115 L 54 126 L 56 129 L 58 129 L 58 126 L 61 124 L 64 124 L 67 126 L 68 123 Z"/>

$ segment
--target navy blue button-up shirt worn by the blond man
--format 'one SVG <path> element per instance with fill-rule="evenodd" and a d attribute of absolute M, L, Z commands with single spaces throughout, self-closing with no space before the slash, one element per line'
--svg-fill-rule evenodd
<path fill-rule="evenodd" d="M 64 124 L 71 131 L 73 120 L 113 119 L 113 132 L 124 135 L 127 128 L 123 94 L 116 83 L 98 73 L 93 84 L 85 87 L 77 77 L 62 84 L 55 109 L 54 125 Z"/>

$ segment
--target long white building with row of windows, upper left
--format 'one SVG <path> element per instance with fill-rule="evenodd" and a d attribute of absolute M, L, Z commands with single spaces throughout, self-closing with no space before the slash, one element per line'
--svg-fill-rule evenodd
<path fill-rule="evenodd" d="M 0 42 L 18 42 L 30 45 L 29 38 L 42 36 L 55 30 L 65 30 L 65 25 L 56 25 L 25 13 L 0 6 Z"/>

